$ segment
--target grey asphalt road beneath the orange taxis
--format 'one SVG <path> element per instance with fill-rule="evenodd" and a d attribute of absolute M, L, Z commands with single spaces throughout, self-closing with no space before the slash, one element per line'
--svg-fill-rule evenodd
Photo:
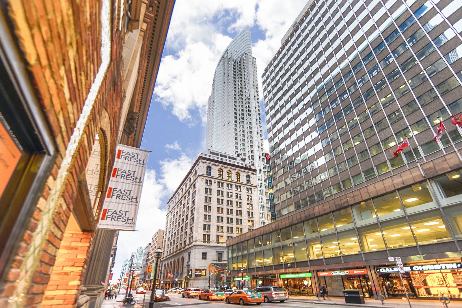
<path fill-rule="evenodd" d="M 145 304 L 143 305 L 143 294 L 134 295 L 136 304 L 140 306 L 148 307 L 149 303 L 149 293 L 146 293 Z M 239 304 L 226 304 L 225 301 L 211 301 L 207 302 L 204 300 L 198 300 L 194 298 L 182 298 L 179 294 L 171 294 L 170 301 L 165 302 L 156 302 L 154 303 L 154 308 L 168 308 L 168 307 L 192 307 L 192 308 L 237 308 Z M 247 304 L 247 307 L 257 307 L 256 304 Z M 271 307 L 271 308 L 298 308 L 298 307 L 308 307 L 308 308 L 338 308 L 336 305 L 319 305 L 319 304 L 310 304 L 304 302 L 271 302 L 271 303 L 261 303 L 258 308 Z M 343 306 L 348 307 L 348 306 Z"/>

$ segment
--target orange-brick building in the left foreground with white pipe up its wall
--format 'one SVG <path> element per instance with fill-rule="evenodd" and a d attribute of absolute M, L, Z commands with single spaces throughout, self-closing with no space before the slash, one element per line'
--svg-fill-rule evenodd
<path fill-rule="evenodd" d="M 116 239 L 96 228 L 101 196 L 116 144 L 139 146 L 143 121 L 119 132 L 132 106 L 146 117 L 173 3 L 2 5 L 1 151 L 12 154 L 1 167 L 1 307 L 98 306 Z M 134 44 L 152 58 L 128 55 Z"/>

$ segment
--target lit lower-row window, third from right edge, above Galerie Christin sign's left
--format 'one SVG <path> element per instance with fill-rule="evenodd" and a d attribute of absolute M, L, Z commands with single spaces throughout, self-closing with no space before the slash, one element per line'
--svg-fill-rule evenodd
<path fill-rule="evenodd" d="M 415 246 L 411 227 L 405 217 L 382 222 L 383 237 L 388 249 Z"/>

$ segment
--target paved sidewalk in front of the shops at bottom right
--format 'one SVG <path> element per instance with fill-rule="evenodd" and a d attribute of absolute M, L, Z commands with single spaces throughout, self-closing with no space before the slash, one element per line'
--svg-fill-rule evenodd
<path fill-rule="evenodd" d="M 413 308 L 442 308 L 443 303 L 439 302 L 438 299 L 434 300 L 418 300 L 418 299 L 411 299 L 411 305 Z M 401 298 L 387 298 L 384 301 L 384 305 L 382 302 L 375 299 L 365 298 L 364 304 L 349 304 L 346 303 L 342 297 L 332 297 L 331 299 L 327 299 L 325 301 L 318 300 L 316 297 L 299 297 L 299 296 L 291 296 L 286 302 L 306 302 L 306 303 L 314 303 L 314 304 L 329 304 L 329 305 L 339 305 L 339 306 L 353 306 L 353 307 L 373 307 L 373 308 L 409 308 L 409 304 L 407 300 L 402 300 Z M 448 304 L 449 308 L 459 308 L 462 307 L 461 301 L 451 301 Z"/>

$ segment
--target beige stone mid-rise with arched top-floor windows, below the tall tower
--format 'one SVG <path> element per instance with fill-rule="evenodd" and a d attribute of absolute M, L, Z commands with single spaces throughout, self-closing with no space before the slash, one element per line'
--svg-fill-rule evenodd
<path fill-rule="evenodd" d="M 209 266 L 212 276 L 215 269 L 226 270 L 226 240 L 260 227 L 256 171 L 235 156 L 202 153 L 170 197 L 167 211 L 164 287 L 207 288 Z"/>

